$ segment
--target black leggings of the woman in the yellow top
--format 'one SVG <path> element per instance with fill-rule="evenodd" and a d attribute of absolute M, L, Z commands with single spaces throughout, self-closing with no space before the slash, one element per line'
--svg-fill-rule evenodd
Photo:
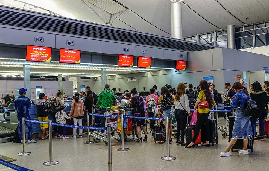
<path fill-rule="evenodd" d="M 206 127 L 206 141 L 209 141 L 209 123 L 208 123 L 208 116 L 209 116 L 209 112 L 208 113 L 199 113 L 198 117 L 197 117 L 197 122 L 196 122 L 196 126 L 195 126 L 195 133 L 194 136 L 192 137 L 192 142 L 195 143 L 196 139 L 198 138 L 200 129 L 203 125 L 203 123 L 205 123 L 205 127 Z"/>

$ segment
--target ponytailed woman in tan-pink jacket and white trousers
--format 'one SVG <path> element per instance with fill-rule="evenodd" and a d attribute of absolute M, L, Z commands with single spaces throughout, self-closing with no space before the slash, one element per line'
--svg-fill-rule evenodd
<path fill-rule="evenodd" d="M 74 94 L 74 100 L 71 104 L 71 111 L 70 114 L 74 120 L 74 125 L 82 126 L 82 118 L 84 115 L 84 103 L 82 100 L 79 99 L 79 93 L 76 92 Z M 82 129 L 79 129 L 79 137 L 82 138 Z M 71 138 L 77 138 L 77 128 L 73 128 L 73 136 Z"/>

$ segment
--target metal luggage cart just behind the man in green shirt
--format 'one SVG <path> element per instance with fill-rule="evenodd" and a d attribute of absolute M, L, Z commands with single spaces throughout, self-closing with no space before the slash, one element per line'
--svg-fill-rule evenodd
<path fill-rule="evenodd" d="M 110 112 L 112 111 L 112 112 Z M 117 131 L 118 128 L 118 117 L 120 117 L 121 112 L 124 112 L 124 109 L 113 110 L 112 108 L 107 108 L 107 112 L 105 115 L 115 115 L 115 117 L 105 117 L 105 127 L 111 126 L 112 132 Z M 105 130 L 104 133 L 100 131 L 92 131 L 89 133 L 92 137 L 96 139 L 103 140 L 104 143 L 107 145 L 107 131 Z M 111 136 L 112 139 L 119 140 L 119 137 Z"/>

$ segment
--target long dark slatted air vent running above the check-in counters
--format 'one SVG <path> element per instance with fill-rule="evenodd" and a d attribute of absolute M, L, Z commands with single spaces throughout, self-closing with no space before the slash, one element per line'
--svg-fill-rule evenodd
<path fill-rule="evenodd" d="M 181 40 L 116 30 L 109 27 L 98 27 L 96 25 L 91 25 L 90 23 L 82 24 L 75 22 L 75 20 L 74 22 L 70 22 L 60 18 L 52 19 L 47 15 L 31 15 L 23 13 L 23 11 L 20 13 L 8 10 L 0 10 L 0 24 L 122 42 L 138 43 L 163 48 L 172 48 L 183 51 L 201 51 L 216 48 L 213 46 L 206 46 L 202 44 L 199 45 L 185 41 L 183 42 Z"/>

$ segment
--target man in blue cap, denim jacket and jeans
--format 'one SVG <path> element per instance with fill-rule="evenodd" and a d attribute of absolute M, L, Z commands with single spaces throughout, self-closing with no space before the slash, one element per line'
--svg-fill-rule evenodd
<path fill-rule="evenodd" d="M 20 96 L 14 101 L 14 110 L 17 111 L 18 117 L 18 133 L 22 143 L 22 118 L 31 119 L 29 114 L 29 109 L 31 108 L 31 101 L 28 97 L 25 97 L 27 89 L 20 88 L 19 94 Z M 31 122 L 25 122 L 28 127 L 28 143 L 36 143 L 37 141 L 32 139 L 33 127 Z"/>

